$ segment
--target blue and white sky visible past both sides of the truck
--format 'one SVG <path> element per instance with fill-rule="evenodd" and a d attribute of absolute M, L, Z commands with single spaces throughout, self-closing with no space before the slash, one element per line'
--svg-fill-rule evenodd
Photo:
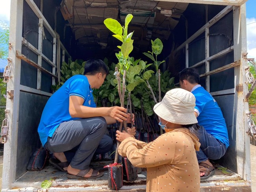
<path fill-rule="evenodd" d="M 0 22 L 9 25 L 11 0 L 0 0 Z M 256 59 L 256 0 L 246 3 L 247 52 L 248 58 Z"/>

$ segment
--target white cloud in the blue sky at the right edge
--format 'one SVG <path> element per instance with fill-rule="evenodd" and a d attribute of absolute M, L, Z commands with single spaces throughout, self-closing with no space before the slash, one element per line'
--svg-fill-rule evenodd
<path fill-rule="evenodd" d="M 247 57 L 256 59 L 256 18 L 247 18 Z"/>

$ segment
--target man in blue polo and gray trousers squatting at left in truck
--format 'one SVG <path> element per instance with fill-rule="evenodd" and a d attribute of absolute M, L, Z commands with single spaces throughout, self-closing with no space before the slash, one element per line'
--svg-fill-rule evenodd
<path fill-rule="evenodd" d="M 40 140 L 56 157 L 50 163 L 68 172 L 68 178 L 101 177 L 103 173 L 89 165 L 95 153 L 106 153 L 112 148 L 113 140 L 104 135 L 107 124 L 127 118 L 128 122 L 134 121 L 123 107 L 96 107 L 92 89 L 99 89 L 108 73 L 102 60 L 87 61 L 84 75 L 69 78 L 43 110 L 38 127 Z M 128 133 L 134 134 L 135 128 L 128 129 Z"/>

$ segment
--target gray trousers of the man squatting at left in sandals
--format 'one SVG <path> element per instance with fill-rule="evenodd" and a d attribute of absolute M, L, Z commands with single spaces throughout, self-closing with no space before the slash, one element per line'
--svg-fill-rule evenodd
<path fill-rule="evenodd" d="M 95 152 L 101 154 L 111 150 L 113 140 L 104 135 L 106 129 L 103 117 L 63 122 L 52 137 L 48 137 L 46 148 L 53 153 L 64 152 L 72 168 L 84 170 L 89 168 Z"/>

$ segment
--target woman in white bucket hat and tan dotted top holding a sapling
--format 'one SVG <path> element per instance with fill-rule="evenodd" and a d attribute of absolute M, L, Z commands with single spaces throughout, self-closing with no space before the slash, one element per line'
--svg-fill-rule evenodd
<path fill-rule="evenodd" d="M 199 192 L 200 174 L 195 151 L 200 143 L 194 114 L 195 96 L 184 89 L 168 91 L 154 106 L 165 134 L 145 143 L 117 131 L 119 154 L 137 167 L 147 168 L 147 192 Z"/>

